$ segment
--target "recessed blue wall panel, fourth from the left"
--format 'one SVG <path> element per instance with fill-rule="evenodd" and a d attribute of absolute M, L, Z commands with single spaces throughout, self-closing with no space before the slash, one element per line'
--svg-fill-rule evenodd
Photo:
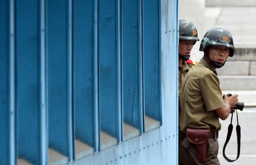
<path fill-rule="evenodd" d="M 74 109 L 76 138 L 93 143 L 93 1 L 74 2 Z"/>

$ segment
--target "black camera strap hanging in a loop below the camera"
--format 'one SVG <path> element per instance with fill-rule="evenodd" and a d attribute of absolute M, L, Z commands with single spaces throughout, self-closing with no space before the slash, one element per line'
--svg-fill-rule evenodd
<path fill-rule="evenodd" d="M 230 137 L 232 135 L 232 130 L 233 130 L 232 119 L 233 119 L 233 113 L 232 113 L 232 116 L 231 116 L 231 122 L 230 122 L 229 127 L 228 127 L 228 134 L 226 136 L 226 141 L 225 141 L 225 144 L 224 144 L 224 147 L 223 147 L 223 151 L 222 151 L 223 157 L 228 162 L 234 162 L 234 161 L 236 161 L 239 158 L 239 156 L 240 156 L 240 146 L 241 146 L 241 127 L 238 124 L 238 113 L 237 113 L 237 127 L 236 127 L 236 130 L 237 130 L 237 158 L 232 160 L 232 159 L 229 159 L 226 156 L 226 154 L 225 154 L 226 145 L 228 145 L 228 142 L 230 140 Z"/>

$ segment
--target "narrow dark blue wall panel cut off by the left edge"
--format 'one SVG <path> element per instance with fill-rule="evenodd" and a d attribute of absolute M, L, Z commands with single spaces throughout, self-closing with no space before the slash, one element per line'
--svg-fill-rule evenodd
<path fill-rule="evenodd" d="M 1 134 L 0 136 L 0 146 L 2 146 L 0 150 L 0 164 L 7 164 L 8 153 L 9 153 L 9 109 L 8 109 L 8 5 L 7 1 L 0 1 L 0 21 L 2 22 L 2 26 L 0 26 L 0 128 Z"/>

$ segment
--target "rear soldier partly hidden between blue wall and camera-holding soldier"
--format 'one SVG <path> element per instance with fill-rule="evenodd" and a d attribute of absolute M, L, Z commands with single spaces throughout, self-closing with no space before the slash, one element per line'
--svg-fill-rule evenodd
<path fill-rule="evenodd" d="M 189 60 L 190 52 L 193 48 L 193 45 L 196 44 L 196 41 L 199 41 L 199 38 L 197 37 L 197 29 L 195 25 L 188 20 L 179 20 L 179 91 L 181 82 L 185 78 L 185 75 L 188 73 L 188 70 L 191 69 L 192 66 L 196 65 L 196 61 Z M 181 136 L 181 134 L 179 136 Z M 180 143 L 181 137 L 179 137 L 179 164 L 182 164 L 180 162 Z"/>

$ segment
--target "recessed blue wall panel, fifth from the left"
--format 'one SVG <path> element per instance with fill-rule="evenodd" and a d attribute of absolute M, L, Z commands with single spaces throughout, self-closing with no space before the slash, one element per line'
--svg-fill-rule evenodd
<path fill-rule="evenodd" d="M 99 1 L 99 67 L 100 67 L 100 123 L 101 129 L 118 137 L 118 41 L 117 2 Z M 119 112 L 120 111 L 120 112 Z"/>

